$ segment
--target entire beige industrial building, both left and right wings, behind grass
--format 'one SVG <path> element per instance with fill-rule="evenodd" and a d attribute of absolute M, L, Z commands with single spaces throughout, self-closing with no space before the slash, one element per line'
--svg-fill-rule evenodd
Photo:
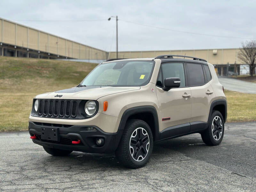
<path fill-rule="evenodd" d="M 153 58 L 168 54 L 194 56 L 212 63 L 218 75 L 225 76 L 228 72 L 239 74 L 241 69 L 245 68 L 244 63 L 237 57 L 238 52 L 239 49 L 126 51 L 118 52 L 118 58 Z M 106 52 L 2 18 L 0 18 L 0 55 L 87 61 L 116 58 L 116 52 Z"/>

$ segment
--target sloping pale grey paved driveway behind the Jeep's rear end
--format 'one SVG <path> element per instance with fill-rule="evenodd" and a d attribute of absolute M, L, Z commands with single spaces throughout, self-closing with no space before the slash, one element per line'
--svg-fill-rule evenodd
<path fill-rule="evenodd" d="M 219 77 L 219 82 L 223 85 L 224 89 L 230 91 L 256 94 L 256 83 L 227 77 Z"/>

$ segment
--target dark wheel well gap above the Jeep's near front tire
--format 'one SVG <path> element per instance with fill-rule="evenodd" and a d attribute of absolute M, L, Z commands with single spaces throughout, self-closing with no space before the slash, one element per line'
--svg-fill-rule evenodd
<path fill-rule="evenodd" d="M 156 126 L 155 126 L 154 116 L 152 113 L 150 113 L 150 112 L 136 113 L 134 115 L 129 116 L 127 121 L 129 119 L 140 119 L 140 120 L 145 121 L 149 125 L 149 127 L 152 131 L 152 134 L 153 134 L 153 139 L 155 140 Z"/>

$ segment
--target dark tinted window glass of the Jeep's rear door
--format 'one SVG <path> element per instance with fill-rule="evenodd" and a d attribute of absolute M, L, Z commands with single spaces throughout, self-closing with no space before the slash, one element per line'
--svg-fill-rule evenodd
<path fill-rule="evenodd" d="M 204 72 L 201 64 L 188 63 L 189 85 L 202 85 L 204 81 Z"/>

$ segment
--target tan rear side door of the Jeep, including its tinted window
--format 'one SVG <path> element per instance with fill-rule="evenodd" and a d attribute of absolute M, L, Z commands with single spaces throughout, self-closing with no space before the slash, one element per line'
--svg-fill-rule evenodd
<path fill-rule="evenodd" d="M 187 74 L 192 96 L 190 131 L 196 131 L 204 128 L 204 123 L 208 121 L 214 92 L 209 83 L 211 74 L 208 65 L 187 63 Z"/>

